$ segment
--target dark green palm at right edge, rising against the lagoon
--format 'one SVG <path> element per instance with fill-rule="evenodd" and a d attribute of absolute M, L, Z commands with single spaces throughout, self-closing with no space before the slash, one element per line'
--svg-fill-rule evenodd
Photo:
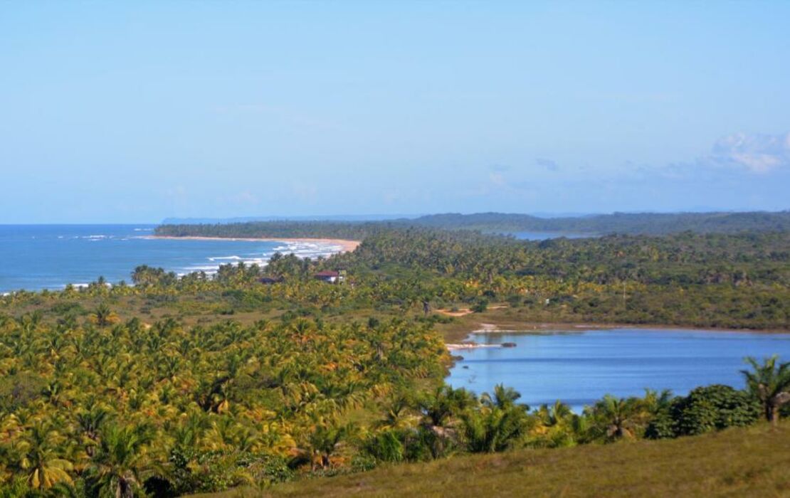
<path fill-rule="evenodd" d="M 777 365 L 777 357 L 765 358 L 762 365 L 754 358 L 746 358 L 752 371 L 741 370 L 746 377 L 747 388 L 760 400 L 766 420 L 776 425 L 779 409 L 790 403 L 790 361 Z"/>

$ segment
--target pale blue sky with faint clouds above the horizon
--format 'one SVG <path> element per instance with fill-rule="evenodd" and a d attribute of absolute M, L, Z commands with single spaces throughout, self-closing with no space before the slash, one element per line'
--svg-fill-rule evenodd
<path fill-rule="evenodd" d="M 790 208 L 790 2 L 2 2 L 0 223 Z"/>

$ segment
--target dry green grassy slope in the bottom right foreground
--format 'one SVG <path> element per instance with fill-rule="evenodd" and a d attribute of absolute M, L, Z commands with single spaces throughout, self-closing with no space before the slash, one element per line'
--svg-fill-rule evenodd
<path fill-rule="evenodd" d="M 205 496 L 790 496 L 790 422 L 678 440 L 457 456 Z"/>

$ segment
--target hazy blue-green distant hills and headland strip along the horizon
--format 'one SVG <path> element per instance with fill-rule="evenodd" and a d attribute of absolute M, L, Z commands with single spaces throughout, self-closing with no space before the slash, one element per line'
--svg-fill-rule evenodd
<path fill-rule="evenodd" d="M 264 221 L 179 224 L 156 228 L 157 235 L 175 237 L 327 237 L 362 239 L 393 228 L 479 230 L 481 232 L 552 232 L 558 234 L 702 234 L 780 232 L 790 230 L 790 212 L 614 213 L 568 218 L 477 213 L 426 215 L 389 221 Z"/>

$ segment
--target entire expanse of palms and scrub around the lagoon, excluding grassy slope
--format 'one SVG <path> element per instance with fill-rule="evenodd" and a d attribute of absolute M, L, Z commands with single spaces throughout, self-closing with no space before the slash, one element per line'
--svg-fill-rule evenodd
<path fill-rule="evenodd" d="M 790 366 L 777 358 L 751 360 L 746 391 L 607 396 L 582 414 L 524 406 L 504 386 L 454 390 L 442 383 L 452 360 L 441 331 L 462 322 L 436 310 L 788 329 L 788 248 L 788 232 L 523 242 L 378 227 L 327 259 L 276 255 L 213 277 L 141 266 L 134 286 L 98 279 L 9 294 L 0 496 L 175 496 L 280 481 L 307 481 L 275 488 L 307 492 L 311 477 L 384 467 L 374 475 L 397 481 L 415 469 L 399 462 L 500 452 L 510 462 L 574 446 L 597 455 L 605 444 L 776 421 L 790 398 Z M 344 283 L 313 278 L 327 269 L 344 271 Z M 415 472 L 438 465 L 453 464 Z"/>

